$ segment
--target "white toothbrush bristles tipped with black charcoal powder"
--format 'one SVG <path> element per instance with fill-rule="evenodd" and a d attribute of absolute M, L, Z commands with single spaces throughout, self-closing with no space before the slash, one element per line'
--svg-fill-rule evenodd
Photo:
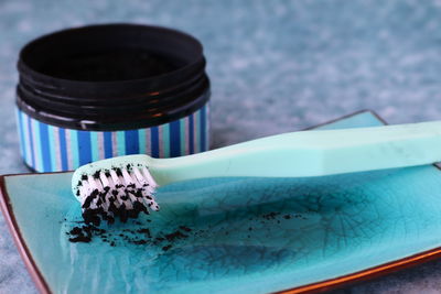
<path fill-rule="evenodd" d="M 159 210 L 154 200 L 158 184 L 147 167 L 127 166 L 84 175 L 78 196 L 86 224 L 99 225 L 100 220 L 126 222 L 143 211 Z"/>

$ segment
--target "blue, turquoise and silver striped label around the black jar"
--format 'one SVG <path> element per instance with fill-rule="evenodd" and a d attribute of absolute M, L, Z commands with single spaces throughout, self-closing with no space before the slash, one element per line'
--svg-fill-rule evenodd
<path fill-rule="evenodd" d="M 72 171 L 93 161 L 148 154 L 175 157 L 208 150 L 208 104 L 157 127 L 127 131 L 82 131 L 40 122 L 17 108 L 20 150 L 36 172 Z"/>

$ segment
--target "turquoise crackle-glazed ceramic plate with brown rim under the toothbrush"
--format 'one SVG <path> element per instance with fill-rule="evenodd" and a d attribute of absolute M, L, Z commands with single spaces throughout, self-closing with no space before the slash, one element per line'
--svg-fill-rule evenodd
<path fill-rule="evenodd" d="M 381 124 L 361 112 L 322 129 Z M 69 242 L 71 173 L 9 175 L 2 208 L 43 292 L 319 291 L 435 257 L 434 166 L 315 178 L 215 178 L 158 193 L 162 210 Z M 71 236 L 72 237 L 72 236 Z"/>

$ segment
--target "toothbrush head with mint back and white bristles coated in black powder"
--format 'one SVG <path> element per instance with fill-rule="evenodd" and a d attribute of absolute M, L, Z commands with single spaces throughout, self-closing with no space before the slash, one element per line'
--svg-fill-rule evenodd
<path fill-rule="evenodd" d="M 79 200 L 86 224 L 101 220 L 126 222 L 140 213 L 159 210 L 154 200 L 158 184 L 151 176 L 147 155 L 103 160 L 78 167 L 72 177 L 72 190 Z"/>

